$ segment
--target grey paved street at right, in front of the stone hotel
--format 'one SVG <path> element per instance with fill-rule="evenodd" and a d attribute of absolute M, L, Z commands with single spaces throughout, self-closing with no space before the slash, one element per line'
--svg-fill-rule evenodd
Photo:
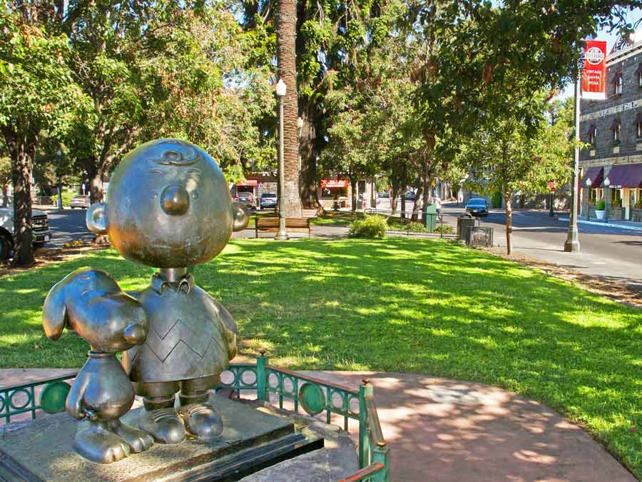
<path fill-rule="evenodd" d="M 462 211 L 454 204 L 444 206 L 444 214 L 457 216 Z M 569 214 L 550 218 L 544 211 L 514 212 L 514 251 L 642 291 L 642 232 L 579 224 L 581 253 L 565 253 L 569 224 L 558 217 L 568 218 Z M 481 219 L 481 226 L 494 228 L 494 244 L 506 246 L 504 211 L 491 209 L 491 214 Z"/>

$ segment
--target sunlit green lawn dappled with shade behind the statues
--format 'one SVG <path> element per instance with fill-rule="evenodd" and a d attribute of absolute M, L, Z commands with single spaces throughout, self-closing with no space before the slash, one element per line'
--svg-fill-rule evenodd
<path fill-rule="evenodd" d="M 151 268 L 114 251 L 0 278 L 0 366 L 73 367 L 86 344 L 41 331 L 78 266 L 126 289 Z M 287 368 L 411 371 L 509 388 L 587 426 L 642 476 L 642 312 L 439 240 L 233 241 L 195 278 L 233 313 L 242 351 Z"/>

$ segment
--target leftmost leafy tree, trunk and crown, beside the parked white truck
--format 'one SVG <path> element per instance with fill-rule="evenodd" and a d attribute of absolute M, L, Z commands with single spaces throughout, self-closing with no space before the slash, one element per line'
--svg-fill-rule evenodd
<path fill-rule="evenodd" d="M 66 36 L 41 19 L 30 3 L 0 11 L 0 129 L 11 157 L 14 263 L 22 266 L 34 263 L 31 169 L 41 131 L 64 131 L 83 99 L 66 66 Z"/>

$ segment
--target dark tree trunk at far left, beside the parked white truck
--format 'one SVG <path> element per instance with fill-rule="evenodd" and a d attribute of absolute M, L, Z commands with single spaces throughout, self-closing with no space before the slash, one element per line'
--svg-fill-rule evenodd
<path fill-rule="evenodd" d="M 7 136 L 5 136 L 6 139 Z M 31 158 L 35 139 L 11 136 L 6 139 L 11 153 L 11 183 L 14 185 L 14 265 L 34 264 L 34 238 L 31 231 Z"/>

